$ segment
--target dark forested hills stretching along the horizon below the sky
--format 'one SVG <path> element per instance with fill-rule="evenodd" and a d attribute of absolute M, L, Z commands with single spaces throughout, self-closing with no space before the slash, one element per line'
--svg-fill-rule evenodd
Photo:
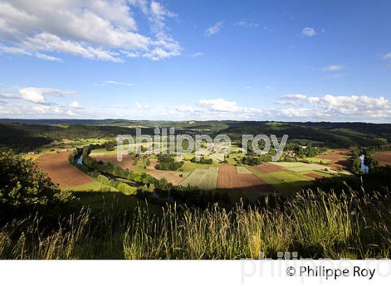
<path fill-rule="evenodd" d="M 0 148 L 21 150 L 52 140 L 113 137 L 118 134 L 152 134 L 153 128 L 176 128 L 176 134 L 226 134 L 239 140 L 243 134 L 265 134 L 303 145 L 349 147 L 380 146 L 391 142 L 391 124 L 276 122 L 276 121 L 135 121 L 122 119 L 0 119 Z"/>

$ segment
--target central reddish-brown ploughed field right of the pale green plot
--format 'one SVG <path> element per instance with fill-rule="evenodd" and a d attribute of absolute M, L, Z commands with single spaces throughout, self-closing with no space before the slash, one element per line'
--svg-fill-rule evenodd
<path fill-rule="evenodd" d="M 265 183 L 254 174 L 238 174 L 233 165 L 221 165 L 217 188 L 223 190 L 260 191 L 263 193 L 278 193 L 272 186 Z"/>

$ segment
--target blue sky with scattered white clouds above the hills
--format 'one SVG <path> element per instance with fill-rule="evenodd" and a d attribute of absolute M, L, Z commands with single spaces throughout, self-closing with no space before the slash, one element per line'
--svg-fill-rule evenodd
<path fill-rule="evenodd" d="M 391 122 L 391 1 L 0 0 L 0 118 Z"/>

